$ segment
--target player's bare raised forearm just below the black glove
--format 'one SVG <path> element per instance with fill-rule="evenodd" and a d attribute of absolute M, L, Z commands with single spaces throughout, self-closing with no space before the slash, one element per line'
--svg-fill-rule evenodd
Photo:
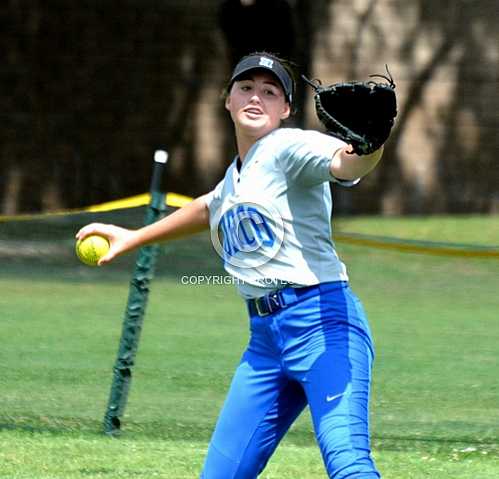
<path fill-rule="evenodd" d="M 383 146 L 368 155 L 350 153 L 350 145 L 336 150 L 331 161 L 330 172 L 335 178 L 356 180 L 367 175 L 379 163 L 383 156 Z"/>

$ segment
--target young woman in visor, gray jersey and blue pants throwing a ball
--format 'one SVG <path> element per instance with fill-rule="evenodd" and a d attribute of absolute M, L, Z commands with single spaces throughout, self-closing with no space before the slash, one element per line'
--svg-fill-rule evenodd
<path fill-rule="evenodd" d="M 373 345 L 331 240 L 329 183 L 356 184 L 382 148 L 358 156 L 331 136 L 281 128 L 294 80 L 275 56 L 244 57 L 227 91 L 238 155 L 212 192 L 139 230 L 92 224 L 77 237 L 106 236 L 105 264 L 210 227 L 246 300 L 251 337 L 201 478 L 256 478 L 307 405 L 329 477 L 379 478 L 368 430 Z"/>

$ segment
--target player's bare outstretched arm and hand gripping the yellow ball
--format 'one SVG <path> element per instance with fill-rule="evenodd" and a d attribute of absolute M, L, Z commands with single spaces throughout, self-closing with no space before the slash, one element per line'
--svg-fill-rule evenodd
<path fill-rule="evenodd" d="M 205 196 L 200 196 L 171 215 L 138 230 L 103 223 L 92 223 L 80 229 L 76 233 L 76 238 L 83 239 L 91 234 L 105 236 L 109 240 L 111 247 L 109 252 L 98 263 L 103 265 L 109 263 L 115 257 L 141 246 L 182 238 L 204 231 L 208 227 L 208 206 Z"/>

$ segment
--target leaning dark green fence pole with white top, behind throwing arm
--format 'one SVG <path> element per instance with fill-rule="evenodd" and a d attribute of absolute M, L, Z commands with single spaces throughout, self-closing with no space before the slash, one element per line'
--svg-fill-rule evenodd
<path fill-rule="evenodd" d="M 156 151 L 150 188 L 151 201 L 145 217 L 146 225 L 154 223 L 166 213 L 166 194 L 161 191 L 161 180 L 167 159 L 168 155 L 165 151 Z M 158 253 L 159 245 L 154 244 L 142 247 L 137 255 L 135 269 L 130 281 L 118 355 L 113 369 L 111 392 L 104 416 L 104 432 L 106 434 L 115 435 L 121 429 L 121 417 L 128 398 L 132 368 L 135 363 L 147 306 L 149 284 L 154 277 Z"/>

